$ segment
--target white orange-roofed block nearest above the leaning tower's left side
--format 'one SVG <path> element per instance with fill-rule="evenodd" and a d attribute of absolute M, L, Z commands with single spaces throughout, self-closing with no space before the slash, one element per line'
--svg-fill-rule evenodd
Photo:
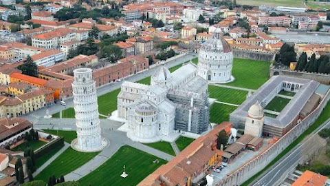
<path fill-rule="evenodd" d="M 45 52 L 41 52 L 40 54 L 31 56 L 31 58 L 36 65 L 46 68 L 65 59 L 63 52 L 60 50 L 47 50 Z"/>

